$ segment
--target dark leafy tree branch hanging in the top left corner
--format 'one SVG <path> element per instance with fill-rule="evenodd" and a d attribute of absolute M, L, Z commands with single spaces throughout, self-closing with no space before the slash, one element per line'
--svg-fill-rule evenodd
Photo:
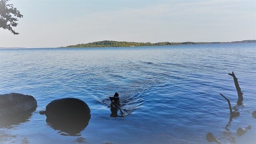
<path fill-rule="evenodd" d="M 18 25 L 18 18 L 22 18 L 23 15 L 20 14 L 17 8 L 13 7 L 13 4 L 7 4 L 8 1 L 9 0 L 0 0 L 0 28 L 8 29 L 13 34 L 19 34 L 12 28 Z"/>

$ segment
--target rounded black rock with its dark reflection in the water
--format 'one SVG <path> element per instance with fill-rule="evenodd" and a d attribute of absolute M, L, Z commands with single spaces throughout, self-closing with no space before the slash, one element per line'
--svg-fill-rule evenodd
<path fill-rule="evenodd" d="M 84 101 L 77 98 L 62 98 L 46 106 L 46 122 L 55 130 L 67 135 L 77 135 L 88 125 L 90 112 Z"/>

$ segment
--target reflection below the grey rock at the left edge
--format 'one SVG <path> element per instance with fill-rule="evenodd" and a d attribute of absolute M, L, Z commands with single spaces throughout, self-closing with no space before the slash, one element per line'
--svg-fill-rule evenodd
<path fill-rule="evenodd" d="M 0 128 L 20 124 L 22 122 L 28 122 L 29 118 L 32 116 L 32 113 L 36 110 L 36 107 L 30 108 L 22 114 L 13 114 L 12 116 L 0 118 Z"/>

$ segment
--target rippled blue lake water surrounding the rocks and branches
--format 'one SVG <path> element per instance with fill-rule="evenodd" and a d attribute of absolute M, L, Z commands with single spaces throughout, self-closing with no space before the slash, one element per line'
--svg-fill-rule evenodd
<path fill-rule="evenodd" d="M 236 104 L 232 71 L 244 93 L 242 105 Z M 224 144 L 256 142 L 255 43 L 2 49 L 0 94 L 11 92 L 34 96 L 38 107 L 26 122 L 0 128 L 3 144 L 206 144 L 207 132 Z M 115 92 L 122 118 L 110 117 L 108 97 Z M 219 93 L 240 112 L 230 123 Z M 68 97 L 91 110 L 88 126 L 72 136 L 38 113 Z M 246 134 L 236 134 L 249 125 Z"/>

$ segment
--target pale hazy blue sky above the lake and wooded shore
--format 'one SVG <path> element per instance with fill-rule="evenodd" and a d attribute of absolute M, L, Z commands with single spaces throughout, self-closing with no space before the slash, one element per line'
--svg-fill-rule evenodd
<path fill-rule="evenodd" d="M 102 40 L 231 42 L 256 39 L 256 0 L 10 0 L 19 35 L 0 47 L 50 48 Z"/>

